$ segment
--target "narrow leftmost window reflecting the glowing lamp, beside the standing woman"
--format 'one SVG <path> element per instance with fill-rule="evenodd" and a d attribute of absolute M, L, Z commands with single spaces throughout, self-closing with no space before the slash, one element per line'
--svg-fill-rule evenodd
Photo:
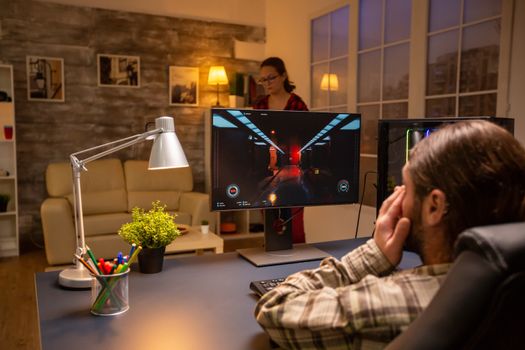
<path fill-rule="evenodd" d="M 348 111 L 348 15 L 344 6 L 311 22 L 311 108 Z"/>

